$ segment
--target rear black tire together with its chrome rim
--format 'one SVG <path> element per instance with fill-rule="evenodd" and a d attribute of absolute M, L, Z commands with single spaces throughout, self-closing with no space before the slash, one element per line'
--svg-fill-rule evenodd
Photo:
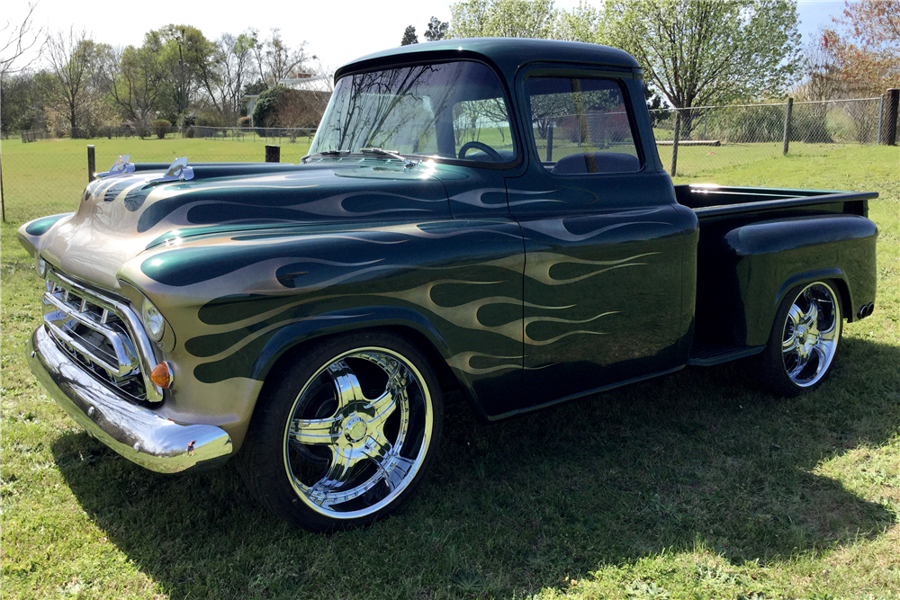
<path fill-rule="evenodd" d="M 761 354 L 766 390 L 793 398 L 815 390 L 828 377 L 843 325 L 836 290 L 834 282 L 812 282 L 798 285 L 781 300 Z"/>

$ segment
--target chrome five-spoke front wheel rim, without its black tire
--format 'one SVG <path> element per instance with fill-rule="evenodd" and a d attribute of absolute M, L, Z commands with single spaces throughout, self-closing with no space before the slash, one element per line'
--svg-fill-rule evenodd
<path fill-rule="evenodd" d="M 361 347 L 329 359 L 302 386 L 284 430 L 297 497 L 330 519 L 374 515 L 410 486 L 428 455 L 431 393 L 403 355 Z"/>

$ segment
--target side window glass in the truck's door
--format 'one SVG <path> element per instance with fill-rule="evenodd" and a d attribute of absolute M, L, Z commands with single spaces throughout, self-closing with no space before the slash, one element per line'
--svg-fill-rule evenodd
<path fill-rule="evenodd" d="M 617 82 L 584 77 L 526 80 L 538 155 L 554 175 L 641 170 Z"/>

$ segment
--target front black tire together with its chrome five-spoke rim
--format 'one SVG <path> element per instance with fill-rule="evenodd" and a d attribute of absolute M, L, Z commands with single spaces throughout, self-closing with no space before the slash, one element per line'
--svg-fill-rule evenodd
<path fill-rule="evenodd" d="M 388 333 L 294 354 L 259 399 L 238 467 L 276 515 L 312 532 L 400 508 L 437 456 L 444 404 L 428 360 Z"/>

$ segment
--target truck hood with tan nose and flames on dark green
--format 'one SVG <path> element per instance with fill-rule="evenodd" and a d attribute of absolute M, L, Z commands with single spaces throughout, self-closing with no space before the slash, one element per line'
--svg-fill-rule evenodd
<path fill-rule="evenodd" d="M 20 229 L 31 254 L 100 287 L 160 245 L 247 229 L 450 217 L 444 184 L 428 163 L 404 168 L 379 158 L 333 165 L 197 165 L 190 181 L 158 182 L 163 171 L 112 175 L 85 188 L 78 210 Z M 52 224 L 49 224 L 52 223 Z M 48 227 L 49 225 L 49 227 Z"/>

